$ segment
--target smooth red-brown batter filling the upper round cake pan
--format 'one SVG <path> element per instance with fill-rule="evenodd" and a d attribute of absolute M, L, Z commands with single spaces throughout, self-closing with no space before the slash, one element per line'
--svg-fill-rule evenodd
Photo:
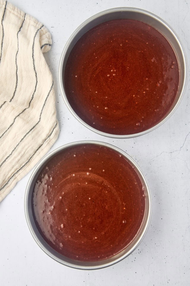
<path fill-rule="evenodd" d="M 118 19 L 86 32 L 72 49 L 64 85 L 84 122 L 111 134 L 159 123 L 178 91 L 179 66 L 167 39 L 137 20 Z"/>

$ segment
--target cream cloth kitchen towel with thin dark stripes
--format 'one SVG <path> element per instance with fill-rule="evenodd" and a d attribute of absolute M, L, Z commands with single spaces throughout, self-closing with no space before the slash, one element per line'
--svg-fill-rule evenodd
<path fill-rule="evenodd" d="M 0 201 L 47 153 L 59 133 L 52 44 L 36 19 L 0 0 Z M 23 192 L 23 190 L 22 190 Z"/>

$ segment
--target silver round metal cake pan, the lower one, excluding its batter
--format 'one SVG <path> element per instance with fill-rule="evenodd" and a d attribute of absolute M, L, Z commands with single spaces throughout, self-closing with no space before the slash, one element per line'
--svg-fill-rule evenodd
<path fill-rule="evenodd" d="M 36 226 L 36 223 L 35 223 L 33 211 L 32 211 L 34 184 L 35 184 L 37 177 L 38 177 L 40 171 L 42 170 L 42 168 L 45 167 L 46 163 L 50 159 L 52 159 L 54 156 L 56 156 L 62 150 L 66 150 L 66 148 L 76 146 L 76 145 L 80 145 L 80 144 L 96 144 L 99 146 L 107 147 L 107 148 L 110 148 L 110 149 L 116 151 L 119 155 L 126 158 L 126 160 L 128 160 L 128 162 L 132 165 L 132 167 L 136 170 L 137 174 L 139 175 L 140 180 L 143 183 L 144 193 L 145 193 L 144 219 L 142 221 L 142 224 L 140 226 L 138 233 L 136 234 L 136 236 L 134 237 L 132 242 L 130 242 L 129 245 L 125 249 L 123 249 L 120 253 L 116 254 L 115 256 L 104 259 L 104 260 L 95 261 L 95 262 L 94 261 L 91 261 L 91 262 L 76 261 L 74 259 L 70 259 L 68 257 L 63 256 L 62 254 L 58 253 L 53 248 L 51 248 L 50 245 L 48 245 L 48 243 L 43 239 L 43 237 L 39 233 L 37 226 Z M 121 261 L 122 259 L 127 257 L 129 254 L 131 254 L 137 248 L 137 246 L 140 244 L 140 242 L 142 241 L 143 237 L 145 236 L 145 234 L 147 232 L 147 229 L 148 229 L 148 226 L 150 223 L 150 219 L 151 219 L 151 206 L 152 206 L 151 193 L 150 193 L 150 190 L 148 187 L 148 183 L 147 183 L 145 176 L 143 175 L 142 171 L 140 170 L 140 168 L 136 164 L 136 162 L 129 155 L 127 155 L 124 151 L 120 150 L 119 148 L 117 148 L 113 145 L 107 144 L 107 143 L 97 142 L 97 141 L 80 141 L 80 142 L 74 142 L 74 143 L 66 144 L 66 145 L 61 146 L 58 149 L 54 150 L 50 154 L 48 154 L 45 158 L 43 158 L 39 162 L 39 164 L 37 165 L 37 167 L 33 171 L 32 175 L 29 179 L 29 182 L 28 182 L 28 185 L 26 188 L 26 194 L 25 194 L 26 220 L 27 220 L 29 229 L 31 231 L 31 234 L 32 234 L 34 240 L 36 241 L 36 243 L 39 245 L 39 247 L 47 255 L 49 255 L 51 258 L 53 258 L 54 260 L 56 260 L 59 263 L 66 265 L 66 266 L 69 266 L 69 267 L 72 267 L 72 268 L 85 269 L 85 270 L 99 269 L 99 268 L 104 268 L 104 267 L 113 265 L 114 263 Z"/>

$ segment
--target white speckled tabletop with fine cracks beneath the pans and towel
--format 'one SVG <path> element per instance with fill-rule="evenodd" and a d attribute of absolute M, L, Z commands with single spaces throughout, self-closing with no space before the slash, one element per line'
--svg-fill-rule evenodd
<path fill-rule="evenodd" d="M 113 7 L 137 7 L 164 19 L 180 37 L 190 65 L 189 0 L 12 0 L 41 21 L 53 45 L 45 55 L 53 73 L 60 135 L 51 150 L 78 140 L 99 140 L 126 151 L 143 170 L 152 192 L 148 232 L 129 257 L 105 269 L 83 271 L 49 258 L 32 238 L 24 214 L 31 172 L 0 203 L 1 285 L 189 285 L 190 280 L 190 80 L 177 111 L 161 127 L 134 139 L 110 139 L 81 125 L 67 110 L 58 84 L 62 49 L 87 18 Z M 189 74 L 189 73 L 188 73 Z"/>

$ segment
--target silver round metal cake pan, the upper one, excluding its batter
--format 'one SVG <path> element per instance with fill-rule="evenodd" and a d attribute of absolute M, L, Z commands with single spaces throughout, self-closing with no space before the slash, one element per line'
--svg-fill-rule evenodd
<path fill-rule="evenodd" d="M 114 19 L 134 19 L 134 20 L 139 20 L 142 21 L 146 24 L 149 24 L 150 26 L 154 27 L 156 30 L 161 32 L 162 35 L 167 38 L 169 43 L 171 44 L 177 60 L 178 60 L 178 65 L 179 65 L 179 70 L 180 70 L 180 82 L 179 82 L 179 88 L 177 92 L 177 96 L 175 98 L 175 101 L 173 102 L 169 112 L 165 115 L 165 117 L 156 125 L 154 125 L 152 128 L 149 128 L 145 131 L 135 133 L 135 134 L 125 134 L 125 135 L 117 135 L 117 134 L 109 134 L 105 133 L 102 131 L 99 131 L 92 126 L 88 125 L 86 122 L 84 122 L 73 110 L 72 106 L 70 105 L 67 95 L 65 92 L 65 86 L 64 86 L 64 70 L 66 66 L 66 62 L 68 59 L 68 56 L 74 47 L 74 45 L 77 43 L 77 41 L 91 28 L 97 26 L 98 24 L 104 23 L 106 21 L 114 20 Z M 81 122 L 84 126 L 89 128 L 90 130 L 103 135 L 107 137 L 112 137 L 112 138 L 132 138 L 132 137 L 137 137 L 140 135 L 143 135 L 145 133 L 148 133 L 160 125 L 162 125 L 176 110 L 178 107 L 182 95 L 185 90 L 186 86 L 186 81 L 187 81 L 187 61 L 186 61 L 186 56 L 185 52 L 183 49 L 183 46 L 181 44 L 181 41 L 179 40 L 178 36 L 174 32 L 174 30 L 161 18 L 157 17 L 156 15 L 147 12 L 145 10 L 137 9 L 137 8 L 129 8 L 129 7 L 121 7 L 121 8 L 113 8 L 110 10 L 103 11 L 101 13 L 98 13 L 88 20 L 86 20 L 83 24 L 81 24 L 75 32 L 71 35 L 69 40 L 67 41 L 59 63 L 59 83 L 60 83 L 60 88 L 61 88 L 61 94 L 63 96 L 64 102 L 69 109 L 69 111 L 75 116 L 75 118 Z"/>

